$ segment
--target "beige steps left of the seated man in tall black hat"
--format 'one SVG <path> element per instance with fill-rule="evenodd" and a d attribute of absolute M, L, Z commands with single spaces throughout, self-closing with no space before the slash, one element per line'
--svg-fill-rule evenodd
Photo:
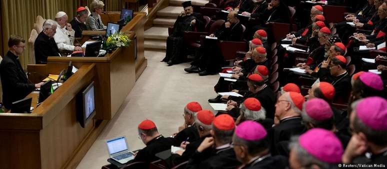
<path fill-rule="evenodd" d="M 169 0 L 169 6 L 157 11 L 153 26 L 144 31 L 145 50 L 165 50 L 168 27 L 172 27 L 183 10 L 181 3 L 186 0 Z M 204 5 L 208 0 L 192 0 L 193 5 Z"/>

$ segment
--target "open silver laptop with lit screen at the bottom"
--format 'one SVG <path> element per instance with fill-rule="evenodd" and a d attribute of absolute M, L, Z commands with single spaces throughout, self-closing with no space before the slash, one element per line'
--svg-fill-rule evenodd
<path fill-rule="evenodd" d="M 126 163 L 134 159 L 134 153 L 127 148 L 127 141 L 125 136 L 119 136 L 106 140 L 107 151 L 109 151 L 110 158 L 119 163 Z"/>

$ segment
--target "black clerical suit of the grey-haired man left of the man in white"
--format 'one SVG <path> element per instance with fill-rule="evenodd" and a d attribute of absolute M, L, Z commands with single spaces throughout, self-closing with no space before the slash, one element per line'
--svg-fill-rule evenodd
<path fill-rule="evenodd" d="M 48 56 L 59 56 L 59 49 L 53 37 L 48 37 L 43 31 L 37 35 L 35 44 L 36 64 L 47 63 Z"/>

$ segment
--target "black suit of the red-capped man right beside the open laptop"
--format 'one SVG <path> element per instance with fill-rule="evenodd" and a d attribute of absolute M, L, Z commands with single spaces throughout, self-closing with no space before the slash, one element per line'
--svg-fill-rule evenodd
<path fill-rule="evenodd" d="M 146 146 L 139 150 L 137 154 L 135 155 L 135 158 L 133 160 L 130 160 L 129 162 L 152 162 L 157 160 L 158 158 L 154 156 L 154 154 L 170 149 L 170 146 L 173 144 L 173 138 L 170 137 L 163 137 L 162 135 L 159 135 L 149 142 L 146 143 Z"/>

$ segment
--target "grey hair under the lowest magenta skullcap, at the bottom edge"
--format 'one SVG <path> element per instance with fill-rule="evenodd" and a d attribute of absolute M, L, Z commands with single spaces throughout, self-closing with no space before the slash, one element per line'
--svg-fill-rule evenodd
<path fill-rule="evenodd" d="M 303 167 L 310 167 L 311 165 L 315 164 L 318 165 L 321 169 L 329 169 L 332 167 L 331 164 L 321 161 L 308 153 L 298 142 L 299 136 L 293 136 L 291 137 L 291 141 L 289 144 L 289 149 L 293 149 L 295 151 L 296 159 L 297 161 L 303 166 Z"/>

